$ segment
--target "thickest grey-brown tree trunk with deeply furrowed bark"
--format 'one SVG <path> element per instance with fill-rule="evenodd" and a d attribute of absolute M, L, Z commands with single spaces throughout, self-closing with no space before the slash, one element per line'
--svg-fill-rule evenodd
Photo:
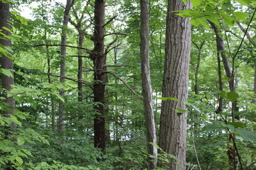
<path fill-rule="evenodd" d="M 191 26 L 189 18 L 175 15 L 172 11 L 191 8 L 182 0 L 169 0 L 166 17 L 166 51 L 164 60 L 163 97 L 175 97 L 177 101 L 162 101 L 159 146 L 177 160 L 170 159 L 170 169 L 186 169 L 186 117 L 178 116 L 175 109 L 186 110 L 188 96 L 189 55 Z M 175 164 L 179 163 L 179 164 Z"/>

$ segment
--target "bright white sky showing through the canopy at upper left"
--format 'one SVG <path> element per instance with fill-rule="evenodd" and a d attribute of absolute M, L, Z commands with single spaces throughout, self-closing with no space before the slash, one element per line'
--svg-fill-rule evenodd
<path fill-rule="evenodd" d="M 66 0 L 54 0 L 51 1 L 51 5 L 54 6 L 56 3 L 60 3 L 60 4 L 66 4 Z M 34 17 L 32 15 L 33 12 L 33 8 L 36 8 L 40 3 L 37 2 L 33 2 L 31 4 L 22 4 L 19 6 L 20 9 L 20 15 L 24 18 L 27 18 L 29 20 L 33 20 Z"/>

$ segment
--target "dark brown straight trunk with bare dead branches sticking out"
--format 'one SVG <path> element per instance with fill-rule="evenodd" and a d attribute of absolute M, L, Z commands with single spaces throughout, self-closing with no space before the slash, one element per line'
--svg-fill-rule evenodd
<path fill-rule="evenodd" d="M 94 102 L 98 103 L 95 106 L 98 114 L 95 115 L 93 120 L 94 128 L 94 146 L 95 148 L 101 148 L 102 152 L 106 149 L 106 129 L 105 129 L 105 83 L 107 81 L 106 73 L 104 73 L 104 65 L 106 64 L 106 55 L 104 55 L 104 12 L 105 1 L 95 1 L 95 30 L 93 34 L 94 49 L 91 54 L 93 59 L 93 66 L 95 69 L 93 84 L 93 96 Z"/>

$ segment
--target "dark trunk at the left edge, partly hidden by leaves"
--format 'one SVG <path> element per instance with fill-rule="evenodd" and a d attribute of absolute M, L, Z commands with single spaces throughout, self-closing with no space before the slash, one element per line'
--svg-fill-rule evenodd
<path fill-rule="evenodd" d="M 2 27 L 11 29 L 11 27 L 10 27 L 10 4 L 0 2 L 0 29 L 2 29 Z M 3 34 L 6 34 L 7 36 L 11 36 L 11 32 L 6 31 L 5 29 L 3 29 L 3 31 L 1 31 L 1 32 L 3 32 Z M 10 39 L 1 39 L 0 38 L 0 44 L 3 46 L 11 46 L 11 41 L 10 41 Z M 1 68 L 2 69 L 13 69 L 12 59 L 3 55 L 3 57 L 1 57 Z M 1 78 L 2 78 L 2 88 L 5 90 L 11 90 L 12 89 L 11 86 L 14 84 L 13 77 L 9 77 L 9 76 L 6 76 L 5 74 L 1 74 Z M 15 100 L 12 97 L 7 98 L 5 92 L 3 93 L 3 95 L 4 95 L 4 97 L 6 97 L 4 102 L 6 102 L 10 106 L 10 109 L 4 111 L 4 116 L 9 117 L 9 115 L 13 114 L 14 107 L 15 107 Z M 16 127 L 16 124 L 12 123 L 12 126 Z"/>

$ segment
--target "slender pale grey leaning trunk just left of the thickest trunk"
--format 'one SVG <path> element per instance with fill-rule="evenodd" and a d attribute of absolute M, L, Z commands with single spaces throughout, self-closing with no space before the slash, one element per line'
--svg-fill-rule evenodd
<path fill-rule="evenodd" d="M 148 157 L 148 169 L 155 169 L 157 166 L 157 148 L 156 145 L 156 125 L 154 120 L 153 108 L 153 90 L 150 78 L 150 62 L 149 62 L 149 39 L 148 39 L 148 1 L 140 0 L 141 6 L 141 31 L 140 31 L 140 57 L 141 57 L 141 80 L 144 112 L 147 127 L 147 147 L 148 154 L 153 155 L 154 158 Z"/>

